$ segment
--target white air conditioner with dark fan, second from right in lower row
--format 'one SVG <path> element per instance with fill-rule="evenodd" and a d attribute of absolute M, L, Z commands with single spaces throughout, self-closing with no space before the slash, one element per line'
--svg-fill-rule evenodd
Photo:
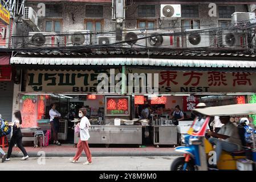
<path fill-rule="evenodd" d="M 209 32 L 200 32 L 202 29 L 186 29 L 186 47 L 209 47 L 210 46 L 210 36 Z"/>

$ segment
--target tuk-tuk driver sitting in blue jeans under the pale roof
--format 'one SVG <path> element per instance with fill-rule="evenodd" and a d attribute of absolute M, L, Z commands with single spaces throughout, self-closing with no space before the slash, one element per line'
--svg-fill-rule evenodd
<path fill-rule="evenodd" d="M 237 127 L 230 122 L 230 116 L 221 116 L 221 123 L 224 126 L 221 127 L 218 133 L 213 131 L 208 131 L 207 133 L 213 138 L 209 138 L 209 142 L 213 145 L 216 145 L 216 157 L 217 163 L 220 159 L 222 150 L 227 152 L 236 152 L 242 150 L 242 142 L 239 137 L 239 132 Z M 217 168 L 217 164 L 210 166 L 212 168 Z"/>

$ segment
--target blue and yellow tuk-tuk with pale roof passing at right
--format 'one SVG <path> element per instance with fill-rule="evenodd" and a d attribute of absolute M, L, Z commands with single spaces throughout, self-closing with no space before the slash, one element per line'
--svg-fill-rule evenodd
<path fill-rule="evenodd" d="M 210 118 L 216 115 L 237 117 L 238 115 L 256 114 L 256 104 L 206 107 L 203 109 L 194 109 L 193 111 L 200 113 L 200 117 L 194 119 L 188 133 L 182 137 L 182 142 L 185 143 L 185 146 L 175 148 L 176 151 L 184 153 L 184 156 L 173 161 L 170 168 L 172 171 L 208 170 L 209 159 L 211 159 L 214 154 L 212 144 L 206 139 L 206 129 L 209 125 Z M 226 152 L 222 150 L 220 160 L 218 160 L 217 163 L 217 168 L 219 170 L 237 170 L 237 160 L 247 159 L 245 161 L 251 162 L 251 165 L 255 170 L 255 134 L 252 134 L 252 137 L 252 146 L 243 146 L 242 151 Z M 248 158 L 250 158 L 250 160 Z"/>

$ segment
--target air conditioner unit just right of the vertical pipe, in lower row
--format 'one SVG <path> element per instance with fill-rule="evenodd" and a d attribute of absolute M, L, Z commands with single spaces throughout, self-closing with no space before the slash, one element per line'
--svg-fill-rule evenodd
<path fill-rule="evenodd" d="M 145 30 L 144 31 L 140 31 L 140 30 L 123 31 L 123 41 L 127 42 L 127 43 L 123 43 L 123 46 L 144 48 L 146 46 L 146 39 L 140 39 L 140 38 L 144 38 L 145 36 L 146 36 Z"/>

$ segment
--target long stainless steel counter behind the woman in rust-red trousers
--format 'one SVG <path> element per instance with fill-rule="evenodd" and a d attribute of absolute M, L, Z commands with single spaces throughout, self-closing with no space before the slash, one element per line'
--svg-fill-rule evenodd
<path fill-rule="evenodd" d="M 141 125 L 92 125 L 89 143 L 97 144 L 142 144 Z M 75 134 L 75 143 L 78 143 Z"/>

